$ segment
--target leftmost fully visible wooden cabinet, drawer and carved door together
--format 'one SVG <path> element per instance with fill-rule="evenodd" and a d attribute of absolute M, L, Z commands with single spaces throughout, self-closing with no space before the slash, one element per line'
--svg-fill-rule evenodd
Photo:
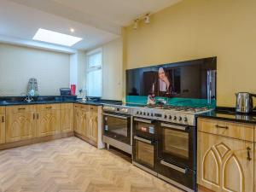
<path fill-rule="evenodd" d="M 34 106 L 15 106 L 6 108 L 6 143 L 31 139 L 36 133 Z"/>

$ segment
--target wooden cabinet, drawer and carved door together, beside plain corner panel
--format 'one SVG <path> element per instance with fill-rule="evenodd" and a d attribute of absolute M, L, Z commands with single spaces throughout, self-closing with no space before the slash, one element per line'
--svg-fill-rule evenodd
<path fill-rule="evenodd" d="M 51 136 L 60 132 L 60 104 L 37 106 L 38 137 Z"/>

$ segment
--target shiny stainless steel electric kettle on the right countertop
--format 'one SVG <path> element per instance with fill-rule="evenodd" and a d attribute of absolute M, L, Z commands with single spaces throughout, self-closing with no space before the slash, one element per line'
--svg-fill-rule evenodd
<path fill-rule="evenodd" d="M 247 92 L 236 93 L 236 112 L 252 113 L 253 112 L 253 96 L 255 94 Z"/>

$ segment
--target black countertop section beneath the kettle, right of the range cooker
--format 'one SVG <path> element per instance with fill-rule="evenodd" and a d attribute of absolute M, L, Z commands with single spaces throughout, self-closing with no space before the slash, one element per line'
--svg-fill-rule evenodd
<path fill-rule="evenodd" d="M 256 124 L 256 112 L 250 114 L 236 113 L 234 108 L 217 108 L 209 113 L 198 114 L 197 117 L 224 119 L 247 124 Z"/>

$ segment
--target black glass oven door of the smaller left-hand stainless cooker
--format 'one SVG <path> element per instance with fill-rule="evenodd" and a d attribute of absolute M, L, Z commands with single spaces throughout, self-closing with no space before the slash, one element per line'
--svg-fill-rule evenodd
<path fill-rule="evenodd" d="M 131 115 L 103 113 L 103 135 L 131 145 Z"/>

